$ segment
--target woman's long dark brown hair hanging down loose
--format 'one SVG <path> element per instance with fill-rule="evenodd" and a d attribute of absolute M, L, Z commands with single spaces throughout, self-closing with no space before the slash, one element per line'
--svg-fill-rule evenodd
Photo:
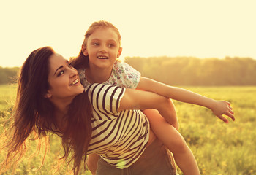
<path fill-rule="evenodd" d="M 73 171 L 78 174 L 82 161 L 86 160 L 86 152 L 91 140 L 91 105 L 87 94 L 81 93 L 69 105 L 65 120 L 61 120 L 63 123 L 57 123 L 54 116 L 55 106 L 45 98 L 50 88 L 49 59 L 54 53 L 51 47 L 34 50 L 20 69 L 17 98 L 12 109 L 13 123 L 7 132 L 9 137 L 4 144 L 4 148 L 8 150 L 4 164 L 10 166 L 13 162 L 17 165 L 26 152 L 26 139 L 31 133 L 36 133 L 39 140 L 49 133 L 56 133 L 62 138 L 64 148 L 62 158 L 66 160 L 72 152 Z M 67 125 L 64 125 L 65 123 Z M 63 125 L 64 129 L 62 129 Z M 40 145 L 41 142 L 39 147 Z M 45 147 L 48 147 L 48 144 Z"/>

